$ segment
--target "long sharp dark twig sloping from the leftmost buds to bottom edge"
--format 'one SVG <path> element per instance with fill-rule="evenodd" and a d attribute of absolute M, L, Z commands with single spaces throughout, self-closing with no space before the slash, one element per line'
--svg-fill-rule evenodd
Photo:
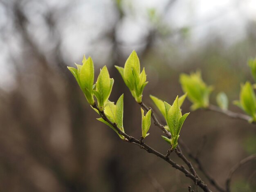
<path fill-rule="evenodd" d="M 171 160 L 169 157 L 166 158 L 166 156 L 164 154 L 161 154 L 160 152 L 154 150 L 153 148 L 151 148 L 150 146 L 146 145 L 146 143 L 141 143 L 138 139 L 122 132 L 118 127 L 116 123 L 112 123 L 107 116 L 105 115 L 104 112 L 101 112 L 99 110 L 99 108 L 97 107 L 96 104 L 94 104 L 92 107 L 94 107 L 95 109 L 97 109 L 99 111 L 100 116 L 106 121 L 108 122 L 110 125 L 112 125 L 112 127 L 114 127 L 116 129 L 116 131 L 121 134 L 122 136 L 125 137 L 124 141 L 127 141 L 129 143 L 133 143 L 138 145 L 141 149 L 146 150 L 148 153 L 152 153 L 155 154 L 156 156 L 160 157 L 161 159 L 163 159 L 164 161 L 166 161 L 167 163 L 169 163 L 170 165 L 172 165 L 172 167 L 174 167 L 177 170 L 180 170 L 181 172 L 183 172 L 185 174 L 186 177 L 189 177 L 190 179 L 192 179 L 192 181 L 194 181 L 195 183 L 197 183 L 197 185 L 202 188 L 202 190 L 204 192 L 211 192 L 211 190 L 209 190 L 209 188 L 207 187 L 207 185 L 201 180 L 198 179 L 196 176 L 194 176 L 193 174 L 191 174 L 191 172 L 189 172 L 188 170 L 185 169 L 185 167 L 183 165 L 178 165 L 177 163 L 175 163 L 173 160 Z"/>

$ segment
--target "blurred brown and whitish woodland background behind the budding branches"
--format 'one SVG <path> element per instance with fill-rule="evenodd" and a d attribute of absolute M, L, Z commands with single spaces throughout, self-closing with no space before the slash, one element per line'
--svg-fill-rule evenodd
<path fill-rule="evenodd" d="M 214 86 L 211 103 L 224 91 L 229 108 L 240 112 L 232 100 L 240 83 L 253 82 L 247 60 L 256 56 L 256 1 L 0 0 L 0 191 L 195 189 L 181 172 L 97 121 L 67 70 L 83 54 L 92 56 L 96 77 L 107 65 L 115 79 L 110 100 L 124 93 L 124 127 L 139 138 L 140 106 L 114 67 L 124 66 L 133 49 L 146 68 L 146 105 L 155 109 L 149 94 L 172 103 L 182 94 L 179 75 L 199 69 Z M 186 100 L 183 112 L 190 105 Z M 149 132 L 146 143 L 166 153 L 162 132 L 153 124 Z M 256 152 L 255 125 L 216 112 L 192 112 L 180 135 L 195 154 L 203 145 L 202 164 L 222 186 L 229 169 Z M 241 167 L 232 191 L 256 191 L 255 170 L 255 161 Z"/>

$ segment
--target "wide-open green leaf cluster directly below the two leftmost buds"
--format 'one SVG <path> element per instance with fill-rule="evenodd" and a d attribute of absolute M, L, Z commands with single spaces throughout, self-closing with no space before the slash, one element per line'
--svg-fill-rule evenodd
<path fill-rule="evenodd" d="M 93 108 L 94 109 L 94 108 Z M 98 114 L 99 112 L 97 109 L 94 109 Z M 124 94 L 122 94 L 119 99 L 117 100 L 117 104 L 115 105 L 113 102 L 110 102 L 109 100 L 105 104 L 104 108 L 104 114 L 106 117 L 112 122 L 116 123 L 117 127 L 124 132 L 124 125 L 123 125 L 123 116 L 124 116 Z M 110 125 L 107 121 L 105 121 L 103 118 L 97 118 L 97 120 L 105 123 L 109 127 L 111 127 L 117 134 L 117 130 Z M 121 139 L 124 139 L 124 136 L 118 134 Z"/>

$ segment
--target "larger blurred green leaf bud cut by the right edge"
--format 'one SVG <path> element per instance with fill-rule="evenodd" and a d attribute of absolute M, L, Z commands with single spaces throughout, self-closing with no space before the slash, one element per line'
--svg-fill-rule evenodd
<path fill-rule="evenodd" d="M 240 100 L 234 101 L 234 104 L 252 117 L 250 122 L 256 121 L 256 96 L 251 83 L 247 81 L 245 85 L 241 85 Z"/>

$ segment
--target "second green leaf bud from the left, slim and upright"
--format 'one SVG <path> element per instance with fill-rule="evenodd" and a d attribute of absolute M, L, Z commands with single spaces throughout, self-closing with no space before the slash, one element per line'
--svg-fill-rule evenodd
<path fill-rule="evenodd" d="M 98 107 L 100 111 L 103 111 L 106 102 L 112 91 L 114 79 L 110 78 L 106 65 L 101 69 L 96 86 L 94 86 L 93 93 L 97 98 Z"/>

